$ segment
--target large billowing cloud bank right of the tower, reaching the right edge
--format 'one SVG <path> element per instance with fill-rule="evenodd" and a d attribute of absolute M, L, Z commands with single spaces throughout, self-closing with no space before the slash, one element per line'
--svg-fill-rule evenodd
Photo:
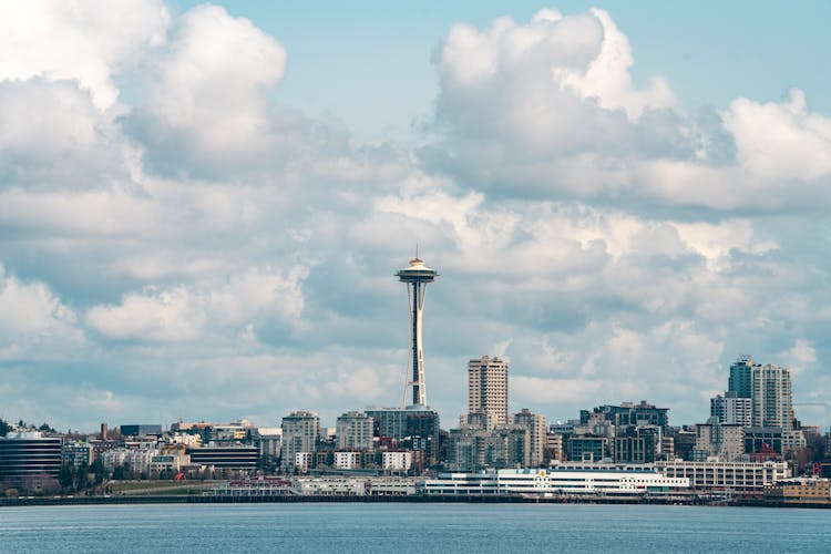
<path fill-rule="evenodd" d="M 420 160 L 465 186 L 716 211 L 831 201 L 831 123 L 801 91 L 690 115 L 661 76 L 635 84 L 628 40 L 603 10 L 458 24 L 435 63 L 435 136 Z"/>

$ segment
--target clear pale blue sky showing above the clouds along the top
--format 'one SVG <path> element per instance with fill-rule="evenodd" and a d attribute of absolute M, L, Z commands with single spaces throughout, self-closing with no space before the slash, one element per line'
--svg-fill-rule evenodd
<path fill-rule="evenodd" d="M 198 2 L 172 2 L 184 12 Z M 456 22 L 488 25 L 494 18 L 529 20 L 544 7 L 579 13 L 597 6 L 626 32 L 633 75 L 663 74 L 684 106 L 724 106 L 748 95 L 778 100 L 792 86 L 814 109 L 831 109 L 821 68 L 831 49 L 828 2 L 226 2 L 289 50 L 278 98 L 312 114 L 346 121 L 361 137 L 412 140 L 413 117 L 429 112 L 438 90 L 431 52 Z M 392 79 L 378 80 L 378 73 Z M 337 86 L 332 86 L 332 81 Z M 367 83 L 372 86 L 367 88 Z"/>

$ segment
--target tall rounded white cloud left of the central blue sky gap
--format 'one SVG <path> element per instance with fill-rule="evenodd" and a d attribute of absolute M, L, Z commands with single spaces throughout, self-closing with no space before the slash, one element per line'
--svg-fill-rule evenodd
<path fill-rule="evenodd" d="M 156 161 L 175 167 L 185 156 L 195 165 L 238 167 L 278 146 L 267 92 L 283 78 L 286 58 L 274 38 L 218 6 L 186 12 L 153 64 L 140 115 Z"/>

